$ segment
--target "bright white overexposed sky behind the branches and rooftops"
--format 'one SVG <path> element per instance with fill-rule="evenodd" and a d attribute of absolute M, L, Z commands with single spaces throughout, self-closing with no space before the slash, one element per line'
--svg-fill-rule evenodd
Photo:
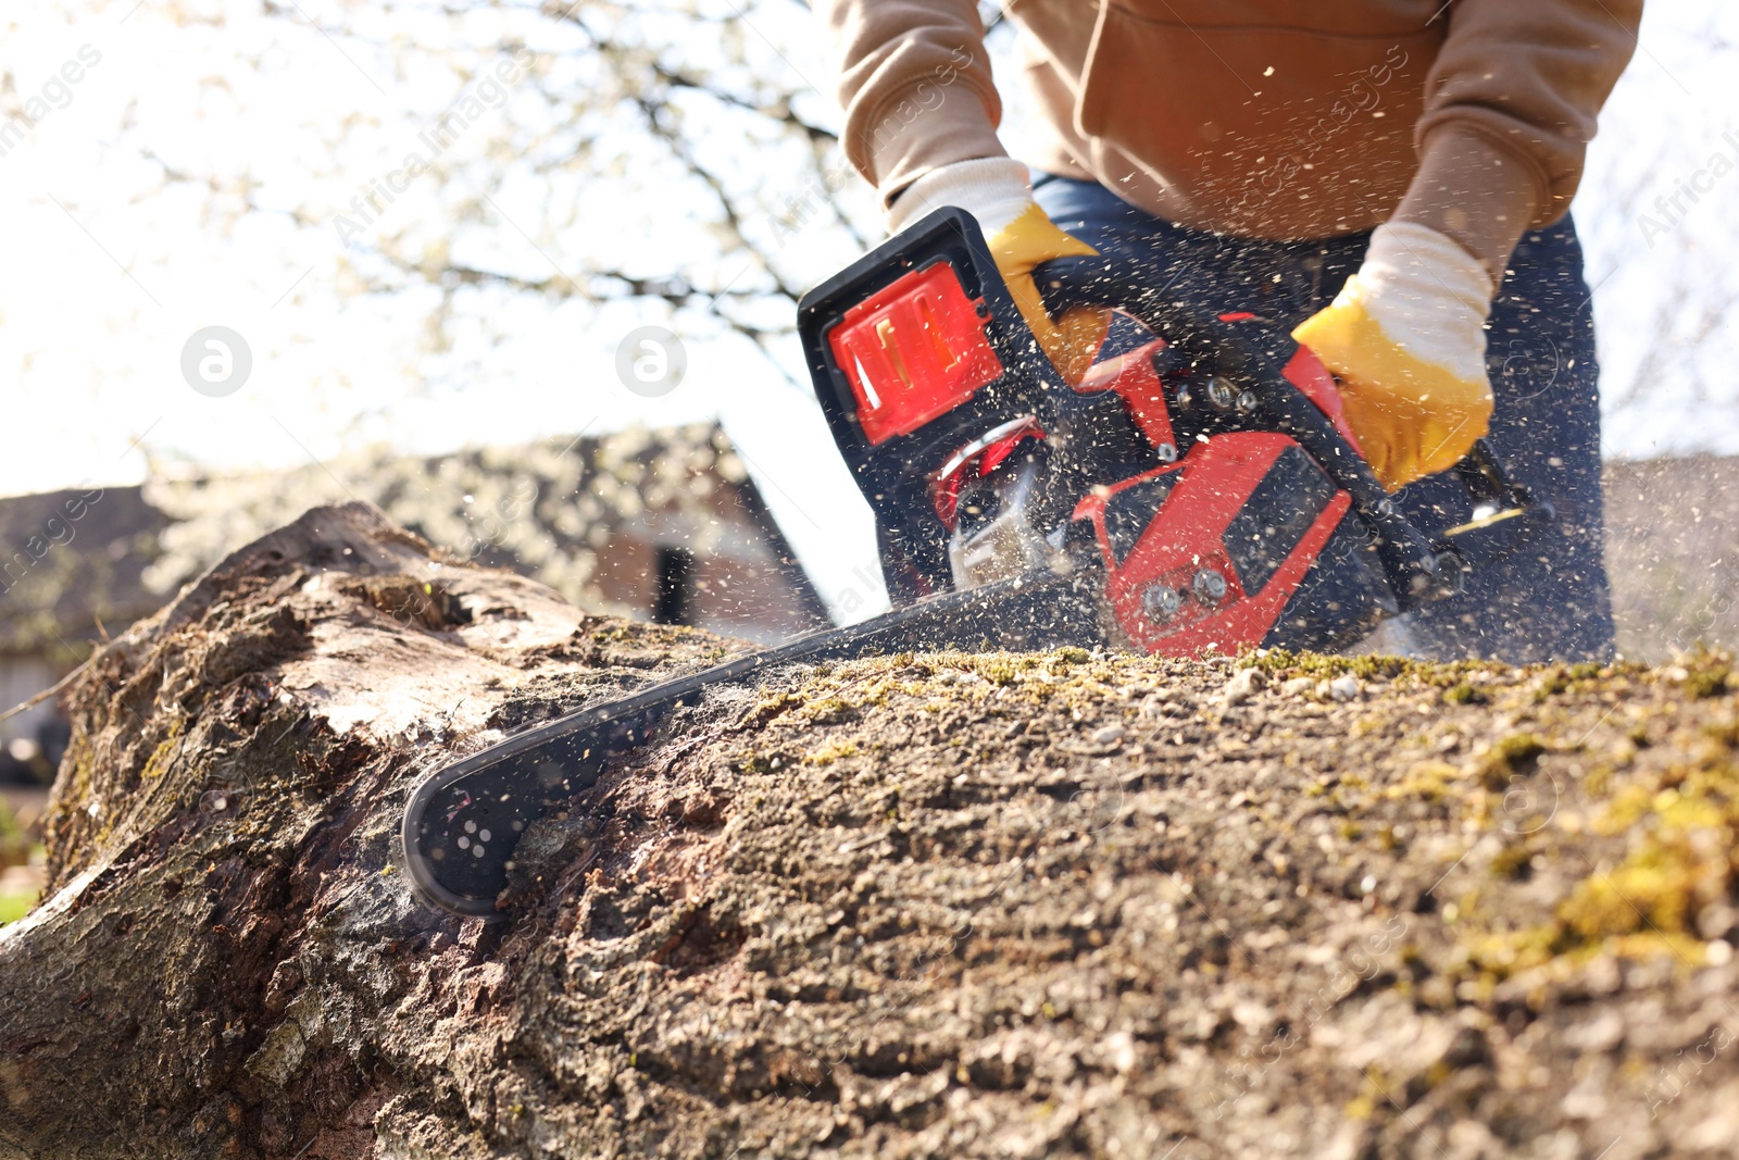
<path fill-rule="evenodd" d="M 443 35 L 428 10 L 299 0 L 280 12 L 24 0 L 0 17 L 0 125 L 19 113 L 33 122 L 21 139 L 0 129 L 0 494 L 132 483 L 151 464 L 289 466 L 372 442 L 440 454 L 716 416 L 823 598 L 854 616 L 880 607 L 868 511 L 814 400 L 791 381 L 802 376 L 791 344 L 781 374 L 748 341 L 690 329 L 663 308 L 518 296 L 485 303 L 487 330 L 457 327 L 431 353 L 428 292 L 353 294 L 346 280 L 369 268 L 370 250 L 416 238 L 417 223 L 450 209 L 454 186 L 489 172 L 487 153 L 468 153 L 489 137 L 485 118 L 510 101 L 522 118 L 537 113 L 506 54 L 478 61 L 480 75 L 457 87 L 449 70 L 395 54 L 395 43 Z M 741 35 L 767 68 L 790 70 L 805 111 L 836 123 L 805 14 L 753 12 Z M 499 19 L 503 37 L 523 33 L 534 50 L 577 61 L 577 42 L 548 21 Z M 1709 311 L 1739 277 L 1739 174 L 1715 176 L 1716 158 L 1739 169 L 1736 45 L 1736 5 L 1656 0 L 1591 148 L 1576 212 L 1609 456 L 1739 454 L 1739 327 Z M 403 157 L 431 111 L 464 96 L 480 99 L 452 151 L 463 165 L 405 179 Z M 1005 130 L 1016 155 L 1024 115 L 1016 99 Z M 631 150 L 624 157 L 631 165 Z M 751 169 L 772 195 L 781 181 L 802 193 L 776 162 Z M 403 190 L 363 219 L 355 198 L 384 183 Z M 1690 186 L 1704 191 L 1675 207 Z M 501 228 L 456 235 L 456 247 L 482 237 L 496 263 L 550 277 L 565 254 L 534 238 L 563 198 L 569 233 L 558 238 L 656 268 L 685 245 L 680 205 L 661 203 L 657 190 L 503 181 L 490 202 Z M 243 197 L 254 212 L 238 212 Z M 868 191 L 849 197 L 868 203 Z M 786 257 L 809 282 L 852 256 L 836 238 L 800 242 Z M 687 336 L 687 374 L 656 398 L 616 370 L 623 336 L 645 323 Z M 226 370 L 223 351 L 203 344 L 214 334 L 240 336 L 252 362 L 230 393 L 224 383 L 197 390 L 183 369 L 198 377 L 200 360 L 216 357 L 209 370 L 233 376 L 235 351 Z"/>

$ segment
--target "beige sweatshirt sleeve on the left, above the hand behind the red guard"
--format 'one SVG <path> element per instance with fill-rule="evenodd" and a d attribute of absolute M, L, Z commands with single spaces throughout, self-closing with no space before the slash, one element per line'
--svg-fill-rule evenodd
<path fill-rule="evenodd" d="M 949 162 L 1007 157 L 974 0 L 816 0 L 845 110 L 845 155 L 883 203 Z"/>

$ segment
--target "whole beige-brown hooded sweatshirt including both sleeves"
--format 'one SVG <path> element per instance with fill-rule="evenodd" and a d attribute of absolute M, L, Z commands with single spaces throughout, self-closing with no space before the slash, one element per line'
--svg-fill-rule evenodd
<path fill-rule="evenodd" d="M 892 198 L 1003 157 L 972 0 L 817 0 L 845 151 Z M 1266 238 L 1391 217 L 1501 270 L 1563 216 L 1642 0 L 1014 0 L 1047 139 L 1023 160 Z"/>

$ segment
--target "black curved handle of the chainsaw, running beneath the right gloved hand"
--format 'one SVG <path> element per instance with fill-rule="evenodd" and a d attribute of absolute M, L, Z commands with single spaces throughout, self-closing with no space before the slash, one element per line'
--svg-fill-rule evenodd
<path fill-rule="evenodd" d="M 1414 527 L 1389 501 L 1370 464 L 1336 430 L 1334 423 L 1285 376 L 1297 353 L 1292 336 L 1264 318 L 1226 322 L 1217 315 L 1163 297 L 1143 282 L 1129 263 L 1104 257 L 1059 257 L 1033 271 L 1033 280 L 1052 317 L 1078 306 L 1120 310 L 1163 337 L 1209 376 L 1224 376 L 1256 395 L 1275 430 L 1294 438 L 1353 501 L 1353 508 L 1377 536 L 1377 551 L 1391 570 L 1409 579 L 1403 602 L 1442 595 L 1459 584 L 1450 560 L 1442 560 L 1431 539 Z"/>

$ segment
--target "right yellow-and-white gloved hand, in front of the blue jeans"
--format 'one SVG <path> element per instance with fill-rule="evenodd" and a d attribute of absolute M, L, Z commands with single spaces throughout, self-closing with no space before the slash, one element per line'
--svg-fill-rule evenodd
<path fill-rule="evenodd" d="M 1391 492 L 1452 468 L 1485 435 L 1492 290 L 1461 245 L 1391 221 L 1334 303 L 1292 332 L 1341 379 L 1346 421 Z"/>

